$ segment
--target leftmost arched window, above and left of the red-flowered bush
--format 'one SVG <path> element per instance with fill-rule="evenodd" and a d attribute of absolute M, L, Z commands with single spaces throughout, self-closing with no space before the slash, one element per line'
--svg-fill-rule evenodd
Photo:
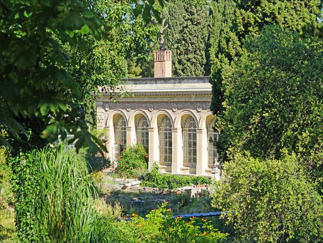
<path fill-rule="evenodd" d="M 127 131 L 126 131 L 126 120 L 123 116 L 119 115 L 115 121 L 114 130 L 115 130 L 115 157 L 117 158 L 120 153 L 124 150 L 125 145 L 127 144 Z"/>

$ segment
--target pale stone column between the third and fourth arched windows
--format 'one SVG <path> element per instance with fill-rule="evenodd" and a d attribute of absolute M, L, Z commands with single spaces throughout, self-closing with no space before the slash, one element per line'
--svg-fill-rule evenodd
<path fill-rule="evenodd" d="M 180 173 L 183 166 L 183 138 L 181 128 L 171 128 L 172 135 L 172 163 L 171 173 Z"/>

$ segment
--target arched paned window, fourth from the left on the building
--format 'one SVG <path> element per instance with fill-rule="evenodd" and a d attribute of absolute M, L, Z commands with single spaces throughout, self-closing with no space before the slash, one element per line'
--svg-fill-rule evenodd
<path fill-rule="evenodd" d="M 196 164 L 196 122 L 192 116 L 183 124 L 183 162 Z"/>

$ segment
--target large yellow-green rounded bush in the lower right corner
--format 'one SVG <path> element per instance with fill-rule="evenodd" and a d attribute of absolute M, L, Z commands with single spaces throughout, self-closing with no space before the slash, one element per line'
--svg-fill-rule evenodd
<path fill-rule="evenodd" d="M 212 206 L 244 239 L 323 241 L 322 197 L 295 155 L 261 160 L 236 154 L 216 182 Z"/>

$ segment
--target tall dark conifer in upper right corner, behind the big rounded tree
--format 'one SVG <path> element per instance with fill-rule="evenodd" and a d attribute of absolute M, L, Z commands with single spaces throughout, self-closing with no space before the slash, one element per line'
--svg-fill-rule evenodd
<path fill-rule="evenodd" d="M 223 96 L 230 92 L 230 67 L 242 53 L 246 35 L 258 35 L 266 24 L 276 23 L 302 33 L 317 27 L 320 0 L 212 0 L 210 2 L 209 60 L 213 87 L 211 110 L 223 110 Z M 321 23 L 322 25 L 322 23 Z"/>

